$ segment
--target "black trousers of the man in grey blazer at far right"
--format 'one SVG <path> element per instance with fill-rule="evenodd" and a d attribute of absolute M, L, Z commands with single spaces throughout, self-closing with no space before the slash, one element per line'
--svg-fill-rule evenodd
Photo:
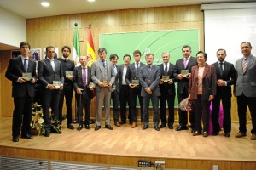
<path fill-rule="evenodd" d="M 239 131 L 247 133 L 247 105 L 252 117 L 253 129 L 251 133 L 256 134 L 256 98 L 246 97 L 244 94 L 237 96 Z"/>

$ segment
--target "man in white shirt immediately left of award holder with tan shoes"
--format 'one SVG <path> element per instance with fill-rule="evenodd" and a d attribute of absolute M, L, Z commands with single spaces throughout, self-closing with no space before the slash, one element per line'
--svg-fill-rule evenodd
<path fill-rule="evenodd" d="M 126 122 L 126 105 L 128 103 L 129 106 L 129 118 L 131 119 L 131 99 L 130 99 L 130 87 L 125 82 L 125 76 L 130 65 L 131 56 L 129 54 L 124 55 L 124 64 L 119 65 L 119 101 L 120 101 L 120 115 L 121 115 L 121 122 Z M 136 125 L 136 123 L 134 123 Z M 132 127 L 132 126 L 131 126 Z M 136 126 L 134 126 L 136 127 Z M 134 128 L 132 127 L 132 128 Z"/>

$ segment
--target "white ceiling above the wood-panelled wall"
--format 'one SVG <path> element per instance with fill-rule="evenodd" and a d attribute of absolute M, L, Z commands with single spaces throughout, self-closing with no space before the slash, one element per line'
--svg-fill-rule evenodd
<path fill-rule="evenodd" d="M 42 7 L 41 2 L 43 1 L 49 2 L 50 6 Z M 95 0 L 94 3 L 89 3 L 87 0 L 0 0 L 0 7 L 29 19 L 61 14 L 78 14 L 125 8 L 240 2 L 253 2 L 253 0 Z"/>

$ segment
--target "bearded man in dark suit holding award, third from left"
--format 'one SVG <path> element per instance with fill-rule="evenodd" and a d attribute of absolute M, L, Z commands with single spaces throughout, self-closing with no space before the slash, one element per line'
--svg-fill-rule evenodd
<path fill-rule="evenodd" d="M 71 52 L 70 47 L 63 46 L 61 49 L 62 57 L 57 58 L 57 60 L 61 61 L 62 71 L 64 75 L 64 86 L 61 91 L 61 99 L 60 99 L 60 107 L 59 107 L 59 119 L 62 122 L 62 108 L 64 102 L 64 96 L 66 100 L 67 107 L 67 128 L 73 130 L 74 127 L 71 124 L 72 122 L 72 99 L 73 99 L 73 70 L 75 68 L 74 62 L 68 59 L 68 56 Z M 70 75 L 68 72 L 72 72 Z M 67 74 L 66 74 L 67 73 Z"/>

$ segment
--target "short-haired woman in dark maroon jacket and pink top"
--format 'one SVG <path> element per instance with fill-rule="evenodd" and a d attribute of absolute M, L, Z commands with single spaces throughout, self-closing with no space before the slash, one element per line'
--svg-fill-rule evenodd
<path fill-rule="evenodd" d="M 208 65 L 207 54 L 199 51 L 196 54 L 198 65 L 191 69 L 189 80 L 189 99 L 195 107 L 195 133 L 201 134 L 201 121 L 203 122 L 203 137 L 208 136 L 209 128 L 209 106 L 216 94 L 216 70 L 213 65 Z"/>

